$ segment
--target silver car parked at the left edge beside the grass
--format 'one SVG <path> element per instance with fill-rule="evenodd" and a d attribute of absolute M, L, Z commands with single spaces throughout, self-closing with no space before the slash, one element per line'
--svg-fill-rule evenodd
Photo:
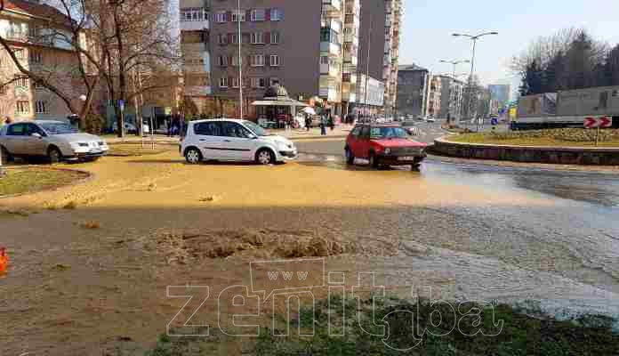
<path fill-rule="evenodd" d="M 96 160 L 108 153 L 108 144 L 99 136 L 79 133 L 63 121 L 19 122 L 0 128 L 3 158 L 45 157 L 51 163 L 63 159 Z"/>

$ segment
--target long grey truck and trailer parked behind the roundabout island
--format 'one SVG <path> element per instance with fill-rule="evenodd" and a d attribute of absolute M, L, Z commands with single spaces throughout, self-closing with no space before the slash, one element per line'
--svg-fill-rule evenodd
<path fill-rule="evenodd" d="M 619 127 L 619 86 L 601 86 L 520 97 L 513 130 L 583 127 L 586 117 L 613 117 Z"/>

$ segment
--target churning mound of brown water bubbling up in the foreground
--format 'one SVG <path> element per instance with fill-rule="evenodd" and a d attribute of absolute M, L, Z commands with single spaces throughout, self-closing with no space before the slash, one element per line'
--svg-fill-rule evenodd
<path fill-rule="evenodd" d="M 353 244 L 312 231 L 166 231 L 159 233 L 157 252 L 167 263 L 240 257 L 326 257 L 354 253 Z"/>

